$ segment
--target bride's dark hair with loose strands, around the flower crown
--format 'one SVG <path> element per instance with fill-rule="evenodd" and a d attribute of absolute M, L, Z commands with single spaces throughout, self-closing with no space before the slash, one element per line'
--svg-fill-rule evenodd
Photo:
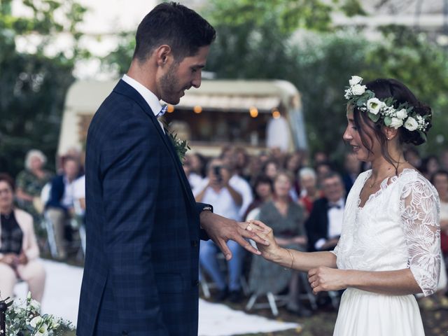
<path fill-rule="evenodd" d="M 378 78 L 376 80 L 372 80 L 371 82 L 365 84 L 367 86 L 367 90 L 373 91 L 375 97 L 384 102 L 384 99 L 388 97 L 392 97 L 395 100 L 393 107 L 395 109 L 398 108 L 400 104 L 407 103 L 410 106 L 414 107 L 414 111 L 418 113 L 420 116 L 429 116 L 426 120 L 429 125 L 426 127 L 425 135 L 431 127 L 431 109 L 428 105 L 419 102 L 419 99 L 416 99 L 415 95 L 407 88 L 406 85 L 400 83 L 396 79 L 385 79 Z M 381 155 L 389 162 L 391 165 L 395 166 L 394 160 L 391 158 L 391 155 L 388 153 L 388 142 L 386 135 L 381 132 L 381 128 L 384 126 L 383 120 L 378 120 L 377 123 L 374 123 L 367 116 L 367 113 L 360 111 L 357 106 L 353 108 L 353 121 L 355 123 L 356 128 L 358 129 L 361 142 L 363 146 L 367 148 L 367 151 L 372 152 L 373 148 L 373 138 L 372 135 L 367 134 L 365 132 L 365 127 L 370 128 L 374 132 L 375 137 L 378 139 L 381 144 Z M 405 127 L 398 128 L 398 139 L 401 144 L 414 144 L 415 146 L 419 146 L 425 142 L 425 139 L 421 137 L 419 132 L 417 131 L 409 131 Z M 367 141 L 368 139 L 368 141 Z"/>

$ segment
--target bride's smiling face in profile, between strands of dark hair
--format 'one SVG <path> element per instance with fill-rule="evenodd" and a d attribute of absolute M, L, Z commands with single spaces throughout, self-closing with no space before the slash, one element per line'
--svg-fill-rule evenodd
<path fill-rule="evenodd" d="M 356 155 L 356 158 L 360 161 L 371 162 L 377 156 L 378 153 L 381 153 L 381 148 L 379 145 L 379 141 L 374 134 L 374 131 L 370 129 L 370 127 L 363 127 L 364 133 L 366 135 L 365 140 L 367 141 L 368 148 L 370 148 L 370 152 L 364 145 L 363 141 L 361 141 L 361 137 L 359 134 L 358 127 L 356 127 L 355 122 L 353 120 L 353 110 L 351 108 L 347 108 L 347 127 L 345 129 L 344 135 L 342 138 L 344 141 L 349 144 L 353 148 L 353 153 Z M 379 154 L 381 155 L 381 154 Z"/>

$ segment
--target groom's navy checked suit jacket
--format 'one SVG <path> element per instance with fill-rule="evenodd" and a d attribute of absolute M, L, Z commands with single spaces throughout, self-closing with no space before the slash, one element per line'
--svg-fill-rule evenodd
<path fill-rule="evenodd" d="M 78 336 L 197 335 L 199 214 L 174 147 L 123 80 L 87 134 Z"/>

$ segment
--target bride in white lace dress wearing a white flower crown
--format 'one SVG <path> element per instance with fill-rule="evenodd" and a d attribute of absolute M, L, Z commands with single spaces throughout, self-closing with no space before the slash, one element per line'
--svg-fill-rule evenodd
<path fill-rule="evenodd" d="M 402 155 L 430 128 L 430 108 L 397 80 L 362 85 L 353 76 L 346 90 L 344 141 L 372 169 L 358 176 L 344 209 L 339 244 L 331 252 L 280 248 L 259 221 L 258 246 L 267 260 L 308 272 L 318 293 L 346 288 L 337 336 L 424 335 L 413 294 L 435 292 L 440 273 L 439 199 L 435 188 Z M 255 230 L 256 231 L 256 230 Z"/>

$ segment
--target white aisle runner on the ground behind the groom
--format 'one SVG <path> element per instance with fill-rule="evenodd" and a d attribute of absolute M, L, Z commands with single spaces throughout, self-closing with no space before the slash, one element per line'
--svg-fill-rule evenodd
<path fill-rule="evenodd" d="M 76 324 L 78 300 L 83 269 L 62 262 L 42 260 L 47 272 L 42 312 L 61 316 Z M 15 288 L 18 297 L 27 295 L 26 283 L 19 283 Z M 199 335 L 229 336 L 255 332 L 272 332 L 297 328 L 297 323 L 285 323 L 269 320 L 243 311 L 230 309 L 225 304 L 210 303 L 200 300 Z"/>

